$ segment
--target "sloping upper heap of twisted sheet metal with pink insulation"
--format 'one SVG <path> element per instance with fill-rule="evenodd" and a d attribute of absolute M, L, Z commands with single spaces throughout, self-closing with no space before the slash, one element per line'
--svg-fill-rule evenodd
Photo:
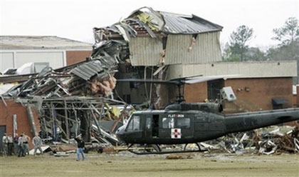
<path fill-rule="evenodd" d="M 115 88 L 115 61 L 95 59 L 63 72 L 46 67 L 28 81 L 14 86 L 6 98 L 61 98 L 67 96 L 105 96 Z"/>

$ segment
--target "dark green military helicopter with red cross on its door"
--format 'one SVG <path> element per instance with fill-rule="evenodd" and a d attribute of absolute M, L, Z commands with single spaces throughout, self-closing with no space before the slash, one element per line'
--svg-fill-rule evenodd
<path fill-rule="evenodd" d="M 132 80 L 126 79 L 126 81 Z M 201 79 L 201 81 L 206 80 Z M 189 83 L 196 82 L 199 81 Z M 179 90 L 182 85 L 189 84 L 185 79 L 183 81 L 159 81 L 159 83 L 177 84 Z M 230 87 L 221 89 L 221 96 L 223 100 L 234 101 L 236 99 Z M 181 102 L 169 105 L 164 110 L 132 113 L 127 124 L 117 129 L 117 138 L 129 145 L 130 152 L 137 154 L 182 152 L 162 151 L 159 147 L 162 144 L 186 144 L 186 148 L 187 144 L 196 143 L 198 151 L 201 151 L 199 142 L 202 141 L 219 138 L 228 133 L 250 131 L 299 120 L 299 108 L 224 115 L 221 113 L 223 111 L 221 103 L 184 103 L 184 97 L 180 92 L 178 101 Z M 131 150 L 134 144 L 145 145 L 145 151 Z M 154 151 L 150 151 L 150 148 Z"/>

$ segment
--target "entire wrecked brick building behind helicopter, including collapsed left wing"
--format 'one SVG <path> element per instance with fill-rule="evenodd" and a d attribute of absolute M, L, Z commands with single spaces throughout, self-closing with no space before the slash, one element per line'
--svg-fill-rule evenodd
<path fill-rule="evenodd" d="M 83 133 L 86 141 L 97 138 L 101 143 L 115 143 L 117 140 L 98 122 L 110 109 L 105 103 L 164 108 L 176 99 L 175 86 L 127 82 L 115 87 L 115 78 L 170 80 L 204 76 L 208 80 L 184 87 L 187 102 L 215 101 L 223 86 L 232 86 L 238 97 L 234 105 L 226 105 L 232 112 L 272 109 L 273 101 L 282 104 L 276 106 L 291 107 L 294 62 L 222 63 L 221 29 L 195 15 L 137 9 L 119 23 L 94 29 L 95 44 L 88 61 L 70 61 L 70 66 L 61 69 L 47 67 L 40 74 L 16 76 L 17 81 L 25 82 L 3 95 L 0 126 L 13 133 L 16 114 L 18 125 L 27 122 L 28 126 L 34 120 L 38 126 L 39 122 L 43 138 L 53 141 L 60 138 L 68 142 Z M 0 82 L 8 80 L 2 77 Z M 38 121 L 35 113 L 28 121 L 28 116 L 6 108 L 6 102 L 11 105 L 16 98 L 23 98 L 15 103 L 17 107 L 22 103 L 36 108 Z M 31 136 L 35 133 L 32 127 L 19 127 L 18 132 L 23 130 Z"/>

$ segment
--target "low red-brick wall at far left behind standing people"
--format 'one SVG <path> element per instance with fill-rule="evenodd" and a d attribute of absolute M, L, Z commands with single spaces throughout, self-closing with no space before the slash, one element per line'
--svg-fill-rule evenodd
<path fill-rule="evenodd" d="M 22 106 L 21 103 L 15 103 L 12 99 L 5 100 L 7 107 L 4 105 L 3 101 L 0 100 L 0 126 L 6 126 L 6 133 L 14 134 L 14 119 L 13 115 L 16 114 L 17 131 L 19 135 L 25 132 L 31 140 L 33 138 L 33 133 L 31 132 L 31 126 L 28 121 L 27 109 Z M 40 131 L 40 123 L 38 121 L 38 113 L 33 108 L 34 123 L 36 124 L 36 130 Z M 29 142 L 29 148 L 33 148 L 31 142 Z"/>

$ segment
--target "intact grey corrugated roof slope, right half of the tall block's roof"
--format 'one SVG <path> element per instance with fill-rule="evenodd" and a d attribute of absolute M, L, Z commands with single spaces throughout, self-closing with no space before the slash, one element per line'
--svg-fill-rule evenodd
<path fill-rule="evenodd" d="M 200 34 L 211 31 L 221 31 L 223 28 L 199 16 L 183 16 L 160 12 L 164 16 L 165 26 L 162 31 L 169 34 Z"/>

